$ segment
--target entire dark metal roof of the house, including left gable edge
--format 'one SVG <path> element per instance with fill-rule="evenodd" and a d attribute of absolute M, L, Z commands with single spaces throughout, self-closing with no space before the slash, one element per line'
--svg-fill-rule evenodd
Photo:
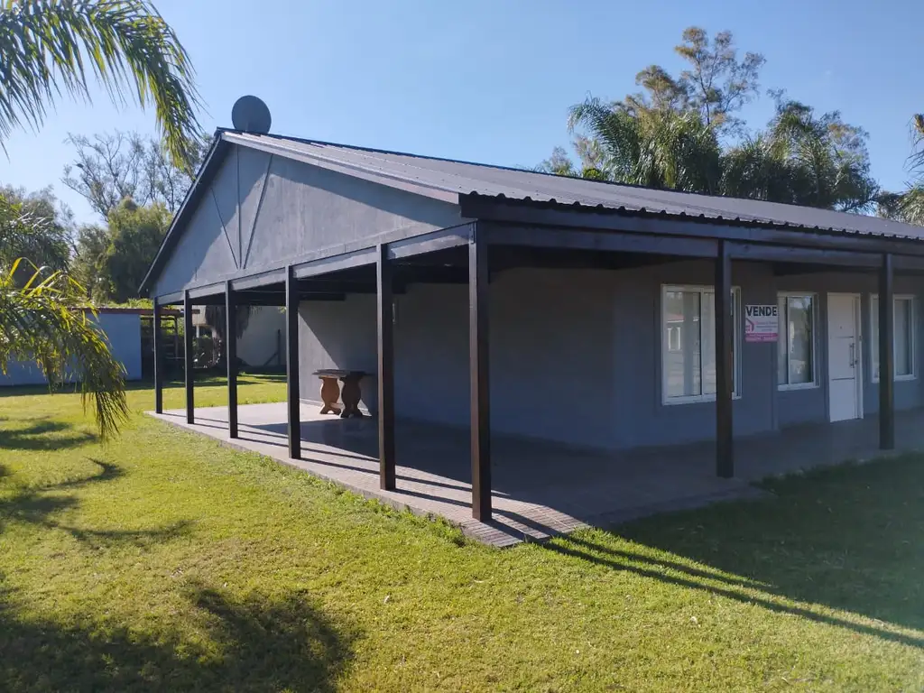
<path fill-rule="evenodd" d="M 874 216 L 832 212 L 792 204 L 742 200 L 714 195 L 602 183 L 553 176 L 505 166 L 387 152 L 343 144 L 258 135 L 218 128 L 199 175 L 174 217 L 164 243 L 140 286 L 144 295 L 176 246 L 188 216 L 232 145 L 322 166 L 400 188 L 436 200 L 463 205 L 485 199 L 529 209 L 604 212 L 630 217 L 677 218 L 707 225 L 786 227 L 793 231 L 824 231 L 838 235 L 924 240 L 924 227 Z M 915 246 L 917 247 L 917 245 Z"/>

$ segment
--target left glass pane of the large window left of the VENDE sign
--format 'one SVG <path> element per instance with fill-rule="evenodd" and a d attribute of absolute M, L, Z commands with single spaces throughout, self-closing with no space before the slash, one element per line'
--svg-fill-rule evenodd
<path fill-rule="evenodd" d="M 699 291 L 664 292 L 664 327 L 679 334 L 676 349 L 664 355 L 664 392 L 667 397 L 700 395 Z"/>

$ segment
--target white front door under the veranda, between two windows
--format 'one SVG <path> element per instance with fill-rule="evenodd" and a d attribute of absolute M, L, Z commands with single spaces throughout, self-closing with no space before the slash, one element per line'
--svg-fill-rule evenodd
<path fill-rule="evenodd" d="M 863 416 L 860 298 L 828 294 L 828 402 L 832 421 Z"/>

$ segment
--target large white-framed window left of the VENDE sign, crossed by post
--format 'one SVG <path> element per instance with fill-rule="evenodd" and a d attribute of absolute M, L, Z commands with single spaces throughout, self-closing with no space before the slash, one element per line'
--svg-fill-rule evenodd
<path fill-rule="evenodd" d="M 735 396 L 739 388 L 741 300 L 732 289 L 732 351 Z M 715 290 L 712 286 L 664 285 L 661 290 L 662 402 L 715 399 Z"/>

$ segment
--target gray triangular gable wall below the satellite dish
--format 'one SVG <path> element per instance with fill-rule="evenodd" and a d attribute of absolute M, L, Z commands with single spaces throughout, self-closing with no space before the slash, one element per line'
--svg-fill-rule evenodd
<path fill-rule="evenodd" d="M 364 238 L 414 236 L 463 221 L 453 204 L 232 146 L 152 295 L 278 269 Z"/>

